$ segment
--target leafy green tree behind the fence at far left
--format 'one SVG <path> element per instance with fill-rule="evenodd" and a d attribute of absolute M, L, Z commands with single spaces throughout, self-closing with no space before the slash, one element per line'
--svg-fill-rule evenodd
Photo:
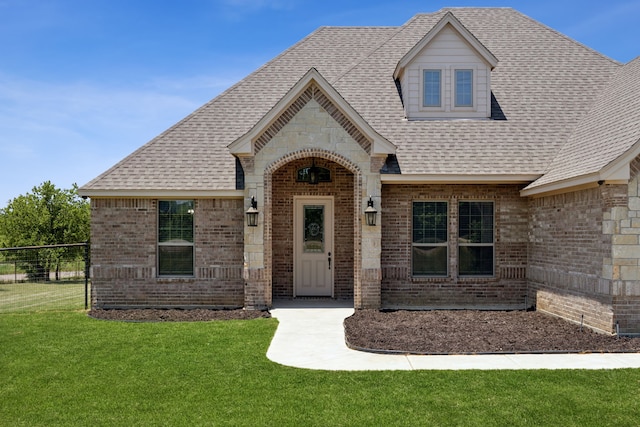
<path fill-rule="evenodd" d="M 3 247 L 79 243 L 89 239 L 89 203 L 78 196 L 76 184 L 61 190 L 50 181 L 31 193 L 11 200 L 0 210 L 0 245 Z M 30 278 L 48 280 L 60 267 L 66 249 L 51 249 L 23 267 Z M 15 257 L 24 254 L 14 253 Z"/>

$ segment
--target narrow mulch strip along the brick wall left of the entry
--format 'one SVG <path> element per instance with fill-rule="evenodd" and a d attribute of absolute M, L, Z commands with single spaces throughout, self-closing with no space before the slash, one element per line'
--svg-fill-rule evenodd
<path fill-rule="evenodd" d="M 128 322 L 204 322 L 209 320 L 248 320 L 271 317 L 268 311 L 257 310 L 208 310 L 208 309 L 91 309 L 89 316 L 96 319 Z"/>

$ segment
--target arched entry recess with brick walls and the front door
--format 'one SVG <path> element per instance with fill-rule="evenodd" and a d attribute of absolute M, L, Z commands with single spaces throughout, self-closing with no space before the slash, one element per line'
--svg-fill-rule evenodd
<path fill-rule="evenodd" d="M 359 194 L 356 193 L 359 173 L 354 165 L 338 157 L 322 150 L 307 151 L 299 153 L 297 158 L 287 158 L 286 163 L 277 162 L 267 172 L 265 181 L 270 182 L 270 191 L 265 188 L 265 196 L 270 193 L 270 263 L 274 300 L 301 296 L 341 300 L 354 297 L 356 272 L 359 271 L 356 266 L 360 261 L 356 243 L 360 241 L 360 205 L 359 199 L 356 205 L 355 197 Z M 308 182 L 304 176 L 305 169 L 312 165 L 324 171 L 316 184 Z M 304 216 L 317 213 L 322 221 L 319 244 L 311 246 L 307 242 L 306 247 L 300 243 L 305 239 L 305 233 L 309 239 L 309 227 L 308 224 L 305 226 Z M 265 246 L 268 247 L 268 243 L 265 242 Z M 321 257 L 323 263 L 318 264 L 321 267 L 316 267 L 314 261 L 304 260 L 305 256 Z M 321 272 L 321 278 L 317 277 L 316 268 L 326 269 Z M 327 277 L 331 279 L 331 289 L 309 283 Z"/>

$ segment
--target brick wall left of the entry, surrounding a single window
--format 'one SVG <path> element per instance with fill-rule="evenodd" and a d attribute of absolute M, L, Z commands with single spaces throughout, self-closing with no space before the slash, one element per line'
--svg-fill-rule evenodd
<path fill-rule="evenodd" d="M 91 200 L 96 308 L 242 307 L 243 201 L 195 202 L 194 277 L 157 277 L 157 200 Z"/>

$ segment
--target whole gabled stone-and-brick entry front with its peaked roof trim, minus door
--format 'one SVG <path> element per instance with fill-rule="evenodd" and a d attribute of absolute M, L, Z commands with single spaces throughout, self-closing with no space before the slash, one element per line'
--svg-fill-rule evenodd
<path fill-rule="evenodd" d="M 348 260 L 349 264 L 342 268 L 350 270 L 344 277 L 335 275 L 338 288 L 333 295 L 352 294 L 355 308 L 380 307 L 380 223 L 365 223 L 364 211 L 372 199 L 378 207 L 377 217 L 382 214 L 380 169 L 387 156 L 395 152 L 395 146 L 346 104 L 317 70 L 311 69 L 269 114 L 230 144 L 229 149 L 242 164 L 245 210 L 254 198 L 258 210 L 258 222 L 245 226 L 244 231 L 245 307 L 263 309 L 272 305 L 274 295 L 294 294 L 293 285 L 289 284 L 292 280 L 288 279 L 293 264 L 280 261 L 290 249 L 279 245 L 283 241 L 286 245 L 287 239 L 292 239 L 291 221 L 295 218 L 289 214 L 285 228 L 278 221 L 282 219 L 281 205 L 292 203 L 294 197 L 294 194 L 285 196 L 287 191 L 298 192 L 297 197 L 321 196 L 322 184 L 309 188 L 306 183 L 307 187 L 303 187 L 296 181 L 296 166 L 289 166 L 298 161 L 298 164 L 313 164 L 314 159 L 317 166 L 325 162 L 338 174 L 351 174 L 350 182 L 341 185 L 339 191 L 334 188 L 332 193 L 323 196 L 333 201 L 334 215 L 339 219 L 337 226 L 345 227 L 335 235 L 350 239 L 346 245 L 333 246 L 336 248 L 332 254 L 334 267 L 335 262 Z M 324 190 L 332 185 L 335 184 L 326 184 Z M 336 202 L 336 198 L 347 198 L 349 203 Z M 288 209 L 291 212 L 293 207 Z M 276 236 L 281 233 L 288 234 Z M 340 256 L 340 251 L 346 251 L 344 260 L 335 258 Z M 340 284 L 341 280 L 348 281 L 348 285 Z"/>

